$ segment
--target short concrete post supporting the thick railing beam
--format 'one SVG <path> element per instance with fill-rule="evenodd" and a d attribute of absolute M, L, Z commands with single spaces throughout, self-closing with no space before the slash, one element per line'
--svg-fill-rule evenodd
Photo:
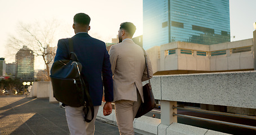
<path fill-rule="evenodd" d="M 177 109 L 173 109 L 173 106 L 177 106 L 176 101 L 165 101 L 161 100 L 161 124 L 170 125 L 172 123 L 177 123 Z"/>

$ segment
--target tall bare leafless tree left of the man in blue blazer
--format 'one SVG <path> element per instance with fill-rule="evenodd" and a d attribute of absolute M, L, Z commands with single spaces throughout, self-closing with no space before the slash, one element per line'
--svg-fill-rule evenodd
<path fill-rule="evenodd" d="M 34 24 L 19 23 L 17 35 L 10 35 L 8 47 L 12 50 L 19 50 L 23 46 L 28 46 L 35 56 L 42 57 L 46 65 L 47 79 L 50 80 L 50 64 L 56 54 L 56 35 L 60 24 L 57 20 L 46 22 L 35 22 Z"/>

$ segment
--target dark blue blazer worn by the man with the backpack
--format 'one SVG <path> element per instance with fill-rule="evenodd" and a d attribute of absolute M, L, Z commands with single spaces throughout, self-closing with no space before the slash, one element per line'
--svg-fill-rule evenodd
<path fill-rule="evenodd" d="M 87 33 L 72 37 L 74 52 L 82 64 L 82 77 L 88 83 L 94 106 L 101 105 L 103 86 L 105 101 L 113 101 L 113 75 L 106 44 Z M 60 39 L 54 61 L 69 59 L 69 40 Z M 102 81 L 103 80 L 103 81 Z"/>

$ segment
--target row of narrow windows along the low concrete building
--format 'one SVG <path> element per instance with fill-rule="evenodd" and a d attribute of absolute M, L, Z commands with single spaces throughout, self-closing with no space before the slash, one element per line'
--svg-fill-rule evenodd
<path fill-rule="evenodd" d="M 232 49 L 232 53 L 250 52 L 250 51 L 251 51 L 251 47 L 241 47 L 241 48 Z M 227 53 L 226 50 L 213 51 L 213 52 L 210 52 L 210 56 L 226 55 L 226 53 Z M 175 49 L 174 50 L 167 50 L 167 55 L 174 55 L 174 54 L 176 54 Z M 192 50 L 181 50 L 181 54 L 192 55 Z M 196 55 L 206 56 L 207 52 L 196 51 Z"/>

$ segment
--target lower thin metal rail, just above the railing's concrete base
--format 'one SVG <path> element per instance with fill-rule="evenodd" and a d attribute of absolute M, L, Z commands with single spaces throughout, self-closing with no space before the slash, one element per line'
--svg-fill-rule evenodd
<path fill-rule="evenodd" d="M 199 118 L 199 117 L 196 117 L 196 116 L 188 116 L 188 115 L 182 115 L 182 114 L 174 114 L 173 115 L 175 116 L 180 116 L 180 117 L 183 117 L 183 118 L 191 118 L 191 119 L 197 119 L 197 120 L 204 120 L 206 122 L 213 122 L 213 123 L 219 123 L 219 124 L 226 124 L 226 125 L 233 125 L 233 126 L 236 126 L 236 127 L 241 127 L 241 128 L 249 128 L 249 129 L 254 129 L 256 130 L 256 127 L 253 127 L 253 126 L 250 126 L 250 125 L 243 125 L 243 124 L 236 124 L 236 123 L 230 123 L 230 122 L 222 122 L 222 121 L 219 121 L 219 120 L 212 120 L 212 119 L 206 119 L 206 118 Z"/>

